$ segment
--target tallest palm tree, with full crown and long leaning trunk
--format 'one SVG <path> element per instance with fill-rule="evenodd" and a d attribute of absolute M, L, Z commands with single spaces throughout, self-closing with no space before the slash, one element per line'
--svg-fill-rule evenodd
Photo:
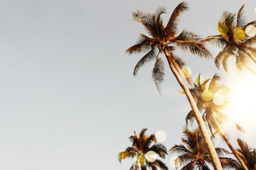
<path fill-rule="evenodd" d="M 152 70 L 152 78 L 159 92 L 161 89 L 161 83 L 164 80 L 164 62 L 159 54 L 165 54 L 171 71 L 173 72 L 181 88 L 184 90 L 191 108 L 194 111 L 198 126 L 214 161 L 214 168 L 215 170 L 221 170 L 222 168 L 218 160 L 217 153 L 214 149 L 211 138 L 207 133 L 207 129 L 203 119 L 200 116 L 200 112 L 197 109 L 196 102 L 180 76 L 180 70 L 182 70 L 186 64 L 181 58 L 174 54 L 175 48 L 179 47 L 184 51 L 190 51 L 191 53 L 197 54 L 203 58 L 211 57 L 211 53 L 205 48 L 204 44 L 199 42 L 200 37 L 197 34 L 183 30 L 177 35 L 179 16 L 182 12 L 187 10 L 188 6 L 186 2 L 181 2 L 178 4 L 166 26 L 163 24 L 163 20 L 161 18 L 161 14 L 166 13 L 165 8 L 163 7 L 158 8 L 158 10 L 153 14 L 144 13 L 141 11 L 134 12 L 133 19 L 142 23 L 149 36 L 140 34 L 138 42 L 134 46 L 130 47 L 126 52 L 129 54 L 147 52 L 138 61 L 138 64 L 134 69 L 135 76 L 137 75 L 139 68 L 155 60 L 155 67 Z M 187 78 L 187 81 L 191 83 L 190 78 Z"/>

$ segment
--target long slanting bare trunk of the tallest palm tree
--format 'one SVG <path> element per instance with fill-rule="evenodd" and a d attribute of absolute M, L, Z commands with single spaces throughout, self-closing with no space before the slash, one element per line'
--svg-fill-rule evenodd
<path fill-rule="evenodd" d="M 197 108 L 197 104 L 196 102 L 194 101 L 194 98 L 193 96 L 191 95 L 188 87 L 184 84 L 184 82 L 182 81 L 180 75 L 178 74 L 176 68 L 174 67 L 173 65 L 173 62 L 172 62 L 172 56 L 171 54 L 169 53 L 169 51 L 167 50 L 164 50 L 164 53 L 165 53 L 165 56 L 168 60 L 168 63 L 169 63 L 169 66 L 174 74 L 174 76 L 176 77 L 177 81 L 178 81 L 178 84 L 181 86 L 181 88 L 184 90 L 186 96 L 187 96 L 187 99 L 189 101 L 189 104 L 195 114 L 195 118 L 197 120 L 197 123 L 198 123 L 198 127 L 203 135 L 203 139 L 205 140 L 206 144 L 207 144 L 207 147 L 209 149 L 209 152 L 210 152 L 210 156 L 211 156 L 211 159 L 213 161 L 213 167 L 215 170 L 222 170 L 222 167 L 221 167 L 221 164 L 220 164 L 220 161 L 219 161 L 219 158 L 218 158 L 218 155 L 217 155 L 217 152 L 215 150 L 215 147 L 213 145 L 213 142 L 207 132 L 207 129 L 206 129 L 206 126 L 204 124 L 204 121 L 201 117 L 201 114 Z"/>

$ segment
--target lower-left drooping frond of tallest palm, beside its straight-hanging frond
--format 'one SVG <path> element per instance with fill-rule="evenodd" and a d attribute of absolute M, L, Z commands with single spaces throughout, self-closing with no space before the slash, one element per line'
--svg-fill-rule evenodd
<path fill-rule="evenodd" d="M 156 53 L 156 49 L 152 49 L 151 51 L 149 51 L 148 53 L 146 53 L 137 63 L 137 65 L 135 66 L 134 68 L 134 72 L 133 72 L 133 75 L 136 76 L 137 73 L 138 73 L 138 70 L 139 68 L 143 67 L 145 64 L 153 61 L 153 60 L 156 60 L 157 58 L 157 54 Z"/>

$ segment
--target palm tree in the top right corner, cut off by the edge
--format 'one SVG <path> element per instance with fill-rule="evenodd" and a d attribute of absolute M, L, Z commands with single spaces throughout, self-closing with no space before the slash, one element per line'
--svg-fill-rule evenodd
<path fill-rule="evenodd" d="M 228 72 L 228 59 L 236 57 L 237 70 L 247 68 L 254 73 L 250 67 L 250 60 L 256 63 L 256 35 L 253 37 L 245 33 L 248 25 L 256 24 L 256 21 L 246 24 L 244 16 L 244 5 L 239 9 L 237 16 L 228 11 L 223 12 L 221 19 L 218 21 L 219 35 L 211 35 L 202 42 L 209 42 L 222 50 L 215 57 L 217 68 L 222 64 L 226 72 Z"/>

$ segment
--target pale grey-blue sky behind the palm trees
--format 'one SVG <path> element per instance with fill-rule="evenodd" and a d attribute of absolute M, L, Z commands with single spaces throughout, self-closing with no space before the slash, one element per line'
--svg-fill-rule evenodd
<path fill-rule="evenodd" d="M 117 153 L 130 145 L 134 130 L 144 127 L 149 134 L 165 131 L 167 149 L 181 143 L 190 106 L 174 76 L 166 65 L 161 97 L 151 79 L 154 63 L 134 78 L 141 55 L 125 54 L 145 33 L 132 21 L 133 11 L 164 6 L 167 23 L 179 2 L 0 0 L 0 169 L 127 170 L 133 160 L 120 164 Z M 218 34 L 221 13 L 237 12 L 243 3 L 248 20 L 256 19 L 253 0 L 187 2 L 190 10 L 182 14 L 179 32 Z M 219 51 L 207 47 L 214 55 Z M 232 85 L 232 76 L 213 60 L 176 53 L 187 61 L 192 77 L 218 73 Z M 255 124 L 248 121 L 241 119 L 244 134 L 228 129 L 235 147 L 237 137 L 256 147 Z M 222 141 L 217 146 L 227 149 Z M 164 160 L 170 170 L 171 156 Z"/>

